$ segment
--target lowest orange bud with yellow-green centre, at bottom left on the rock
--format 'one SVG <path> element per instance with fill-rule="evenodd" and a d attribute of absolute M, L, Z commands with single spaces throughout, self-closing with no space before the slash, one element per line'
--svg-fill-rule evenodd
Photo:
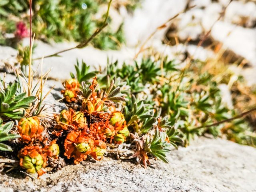
<path fill-rule="evenodd" d="M 28 173 L 38 173 L 41 176 L 45 173 L 43 170 L 46 167 L 47 157 L 44 149 L 40 146 L 25 146 L 18 153 L 20 158 L 20 166 L 27 170 Z"/>

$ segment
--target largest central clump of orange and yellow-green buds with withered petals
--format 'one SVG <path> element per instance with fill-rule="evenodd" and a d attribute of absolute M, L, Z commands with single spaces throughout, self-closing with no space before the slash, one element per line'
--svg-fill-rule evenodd
<path fill-rule="evenodd" d="M 74 83 L 74 80 L 72 80 Z M 106 143 L 121 144 L 129 136 L 124 115 L 116 111 L 114 104 L 104 106 L 106 98 L 97 95 L 96 78 L 90 85 L 90 96 L 82 101 L 81 111 L 62 110 L 56 116 L 55 135 L 66 136 L 64 140 L 64 156 L 73 159 L 74 164 L 86 160 L 90 155 L 101 160 L 106 152 Z M 76 91 L 77 84 L 66 81 L 66 90 Z M 79 92 L 78 92 L 79 94 Z M 82 98 L 82 97 L 81 97 Z M 80 102 L 78 102 L 79 104 Z M 105 111 L 104 109 L 108 109 Z M 66 132 L 66 134 L 62 134 Z"/>

